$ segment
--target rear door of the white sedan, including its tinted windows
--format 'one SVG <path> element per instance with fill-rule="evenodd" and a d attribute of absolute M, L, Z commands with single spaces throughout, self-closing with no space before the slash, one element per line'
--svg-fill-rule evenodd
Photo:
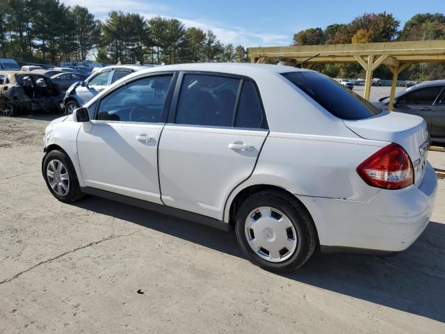
<path fill-rule="evenodd" d="M 222 219 L 227 196 L 252 173 L 267 135 L 250 79 L 181 73 L 159 142 L 164 204 Z"/>

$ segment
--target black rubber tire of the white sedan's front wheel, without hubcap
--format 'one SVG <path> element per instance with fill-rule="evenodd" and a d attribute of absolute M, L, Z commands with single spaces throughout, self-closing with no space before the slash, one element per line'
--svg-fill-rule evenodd
<path fill-rule="evenodd" d="M 70 177 L 69 189 L 67 193 L 64 195 L 56 193 L 56 191 L 54 191 L 54 189 L 52 189 L 51 185 L 49 184 L 49 177 L 47 173 L 48 173 L 48 165 L 51 161 L 60 161 L 65 167 Z M 65 152 L 59 150 L 53 150 L 45 154 L 42 164 L 42 174 L 49 191 L 55 198 L 60 200 L 60 202 L 72 203 L 76 202 L 76 200 L 80 200 L 81 198 L 85 197 L 85 195 L 81 192 L 81 187 L 79 186 L 79 180 L 77 180 L 76 170 L 74 170 L 74 166 L 72 165 L 70 157 L 68 157 Z"/>

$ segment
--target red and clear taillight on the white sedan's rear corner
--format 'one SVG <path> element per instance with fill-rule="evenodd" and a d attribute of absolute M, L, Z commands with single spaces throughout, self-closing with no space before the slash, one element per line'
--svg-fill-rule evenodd
<path fill-rule="evenodd" d="M 370 186 L 402 189 L 414 182 L 410 157 L 401 145 L 391 143 L 357 167 L 357 173 Z"/>

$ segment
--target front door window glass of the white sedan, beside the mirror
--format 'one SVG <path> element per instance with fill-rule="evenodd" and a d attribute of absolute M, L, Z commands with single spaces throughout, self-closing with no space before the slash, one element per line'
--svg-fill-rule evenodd
<path fill-rule="evenodd" d="M 97 120 L 160 122 L 172 76 L 133 81 L 104 97 Z"/>

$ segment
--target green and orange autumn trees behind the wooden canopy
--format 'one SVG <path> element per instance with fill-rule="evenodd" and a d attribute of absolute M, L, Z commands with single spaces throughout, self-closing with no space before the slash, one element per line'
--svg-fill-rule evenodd
<path fill-rule="evenodd" d="M 299 31 L 293 35 L 293 43 L 294 45 L 321 45 L 445 39 L 443 13 L 416 14 L 405 23 L 401 31 L 398 31 L 399 24 L 400 22 L 392 14 L 365 13 L 355 17 L 348 24 L 331 24 L 324 31 L 321 28 Z M 316 70 L 330 77 L 364 77 L 364 70 L 357 64 L 330 64 L 318 67 Z M 380 66 L 375 71 L 375 77 L 391 79 L 391 73 L 386 67 Z M 399 76 L 401 80 L 433 80 L 444 77 L 445 65 L 437 63 L 412 65 Z"/>

